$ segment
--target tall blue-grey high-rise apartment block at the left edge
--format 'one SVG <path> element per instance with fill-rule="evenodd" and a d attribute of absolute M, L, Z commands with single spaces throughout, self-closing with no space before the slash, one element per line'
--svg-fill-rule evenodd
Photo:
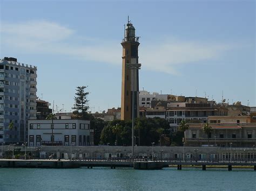
<path fill-rule="evenodd" d="M 28 139 L 28 120 L 36 119 L 36 79 L 35 66 L 16 58 L 0 60 L 0 143 Z"/>

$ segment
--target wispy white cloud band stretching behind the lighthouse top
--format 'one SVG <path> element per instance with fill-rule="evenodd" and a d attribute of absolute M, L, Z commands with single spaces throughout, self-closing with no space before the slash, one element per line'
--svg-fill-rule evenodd
<path fill-rule="evenodd" d="M 122 62 L 119 41 L 105 44 L 95 41 L 94 45 L 72 43 L 75 31 L 66 26 L 45 20 L 23 23 L 2 23 L 2 43 L 11 48 L 36 53 L 76 56 L 90 61 L 114 65 Z M 87 37 L 83 37 L 87 38 Z M 91 38 L 87 38 L 91 39 Z M 91 39 L 91 41 L 93 41 Z M 71 43 L 70 43 L 71 42 Z M 143 69 L 177 75 L 176 65 L 218 59 L 231 46 L 223 43 L 200 43 L 198 41 L 165 40 L 163 43 L 140 45 L 139 60 Z M 91 44 L 91 43 L 90 43 Z"/>

